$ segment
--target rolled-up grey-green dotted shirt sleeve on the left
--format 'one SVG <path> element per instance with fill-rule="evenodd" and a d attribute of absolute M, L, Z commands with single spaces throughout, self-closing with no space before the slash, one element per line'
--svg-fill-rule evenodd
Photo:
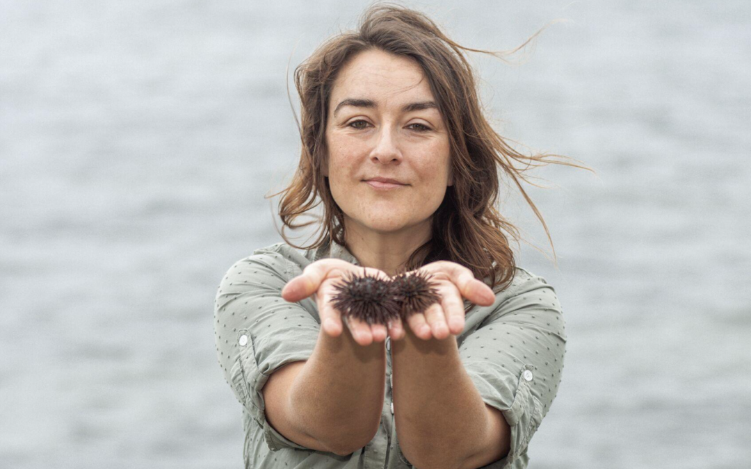
<path fill-rule="evenodd" d="M 219 365 L 240 404 L 272 450 L 309 449 L 288 440 L 266 419 L 266 381 L 277 368 L 309 359 L 320 326 L 301 303 L 282 298 L 294 265 L 282 254 L 258 250 L 237 261 L 222 278 L 214 305 L 214 338 Z M 295 273 L 294 275 L 297 275 Z M 292 276 L 294 276 L 292 275 Z"/>

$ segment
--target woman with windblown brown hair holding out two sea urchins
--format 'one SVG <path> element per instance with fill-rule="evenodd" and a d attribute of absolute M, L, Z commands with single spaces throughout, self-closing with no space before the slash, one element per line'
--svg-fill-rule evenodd
<path fill-rule="evenodd" d="M 494 203 L 498 167 L 526 197 L 511 161 L 558 161 L 490 128 L 463 50 L 423 14 L 376 5 L 297 68 L 303 149 L 280 215 L 303 227 L 323 202 L 320 236 L 296 246 L 282 232 L 216 297 L 246 467 L 526 467 L 566 335 L 553 287 L 514 265 L 502 230 L 516 230 Z M 442 301 L 406 324 L 331 304 L 347 272 L 416 269 Z"/>

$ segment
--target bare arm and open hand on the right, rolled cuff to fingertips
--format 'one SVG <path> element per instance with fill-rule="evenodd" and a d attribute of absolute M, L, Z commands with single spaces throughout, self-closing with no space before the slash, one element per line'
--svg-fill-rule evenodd
<path fill-rule="evenodd" d="M 441 301 L 409 317 L 406 337 L 394 341 L 400 446 L 418 467 L 482 467 L 508 453 L 510 431 L 501 412 L 485 404 L 472 383 L 454 334 L 463 330 L 463 298 L 490 305 L 495 296 L 457 263 L 441 261 L 422 270 L 433 275 Z"/>

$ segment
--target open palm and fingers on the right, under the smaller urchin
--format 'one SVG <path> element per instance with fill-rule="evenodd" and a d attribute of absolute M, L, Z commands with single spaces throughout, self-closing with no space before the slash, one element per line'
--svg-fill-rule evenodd
<path fill-rule="evenodd" d="M 439 302 L 430 305 L 423 313 L 407 318 L 409 329 L 423 340 L 460 334 L 464 330 L 464 299 L 481 306 L 490 306 L 496 300 L 493 290 L 460 264 L 439 260 L 418 270 L 431 275 L 430 283 L 441 296 Z M 394 340 L 403 338 L 405 332 L 401 319 L 389 324 L 389 334 Z"/>

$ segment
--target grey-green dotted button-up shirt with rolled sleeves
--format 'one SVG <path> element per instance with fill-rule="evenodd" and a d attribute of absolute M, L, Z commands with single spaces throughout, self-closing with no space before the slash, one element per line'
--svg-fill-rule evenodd
<path fill-rule="evenodd" d="M 321 328 L 313 297 L 289 303 L 282 299 L 282 287 L 324 257 L 360 265 L 337 243 L 301 253 L 280 242 L 238 260 L 219 284 L 216 353 L 243 406 L 245 467 L 412 467 L 394 429 L 390 338 L 381 425 L 366 446 L 346 456 L 317 451 L 288 440 L 267 422 L 261 389 L 277 368 L 311 356 Z M 526 467 L 529 440 L 556 396 L 566 353 L 565 323 L 555 290 L 544 278 L 517 267 L 512 284 L 496 291 L 493 305 L 465 305 L 464 331 L 457 335 L 464 368 L 483 401 L 501 410 L 511 427 L 511 451 L 485 467 Z"/>

